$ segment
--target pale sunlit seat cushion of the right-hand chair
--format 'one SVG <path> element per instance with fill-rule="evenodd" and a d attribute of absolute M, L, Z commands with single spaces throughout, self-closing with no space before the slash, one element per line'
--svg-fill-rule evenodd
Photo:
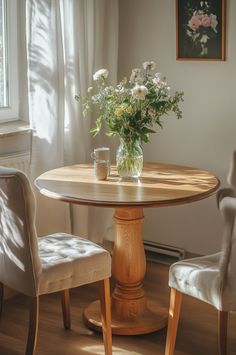
<path fill-rule="evenodd" d="M 172 264 L 169 271 L 169 286 L 221 310 L 220 255 L 221 253 L 217 253 Z"/>

